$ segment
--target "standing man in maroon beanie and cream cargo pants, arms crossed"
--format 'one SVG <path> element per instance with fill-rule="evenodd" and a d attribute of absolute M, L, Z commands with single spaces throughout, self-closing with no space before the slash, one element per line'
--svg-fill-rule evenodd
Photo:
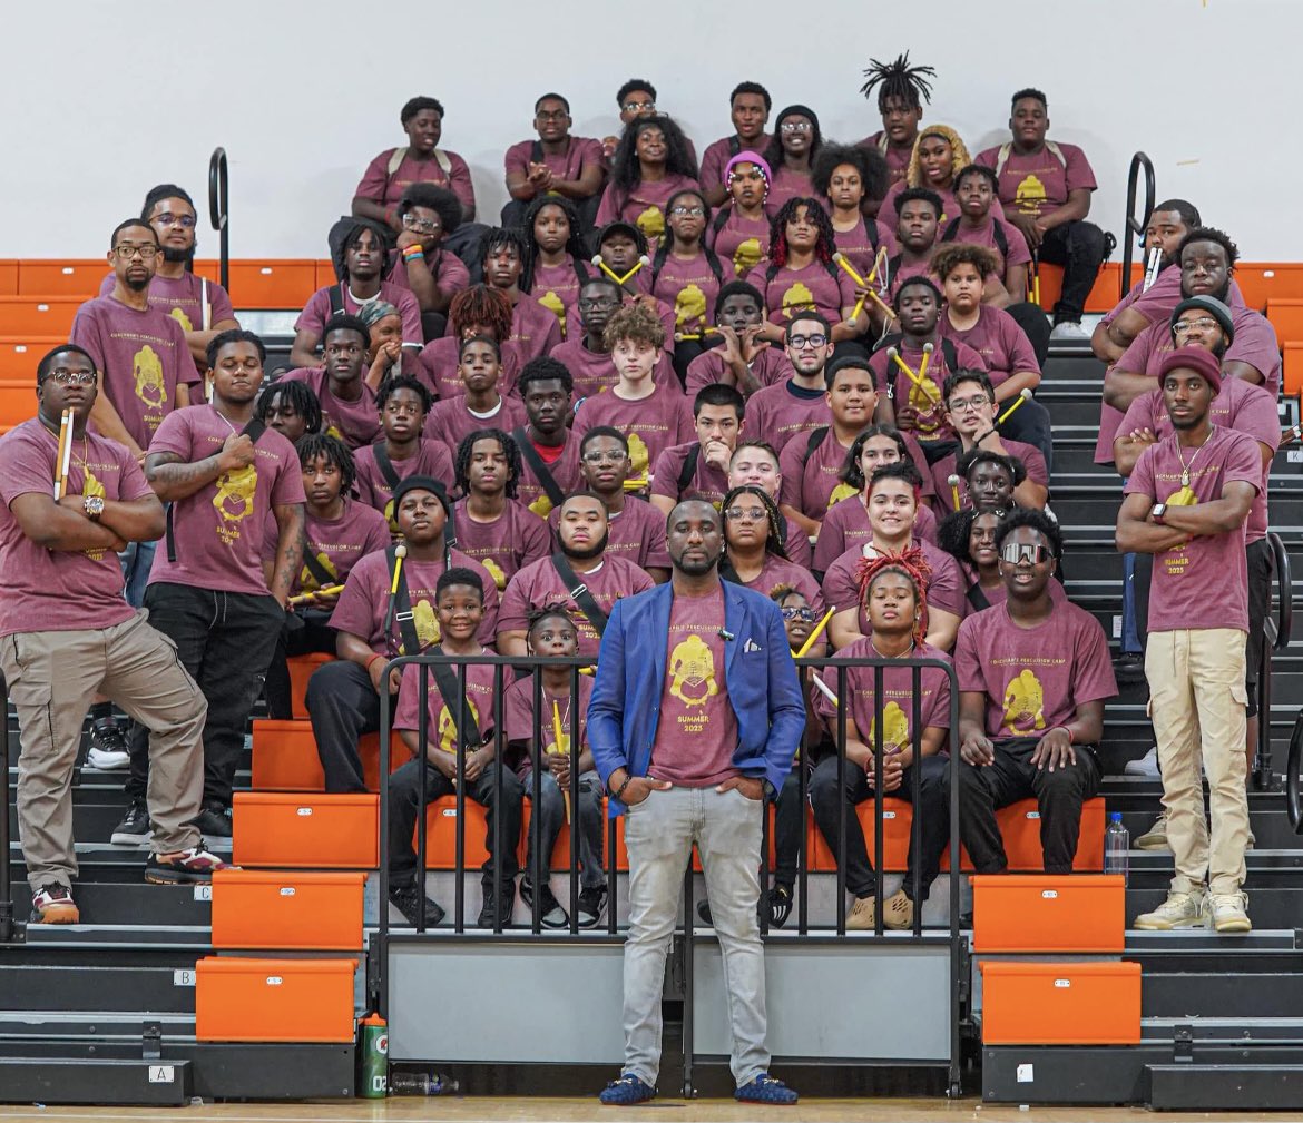
<path fill-rule="evenodd" d="M 1247 433 L 1213 425 L 1222 378 L 1221 363 L 1200 347 L 1178 348 L 1162 361 L 1158 379 L 1173 433 L 1140 453 L 1118 512 L 1118 550 L 1154 555 L 1145 677 L 1177 866 L 1166 902 L 1136 917 L 1143 929 L 1209 921 L 1217 931 L 1251 928 L 1242 890 L 1248 847 L 1244 534 L 1263 487 L 1263 457 Z"/>

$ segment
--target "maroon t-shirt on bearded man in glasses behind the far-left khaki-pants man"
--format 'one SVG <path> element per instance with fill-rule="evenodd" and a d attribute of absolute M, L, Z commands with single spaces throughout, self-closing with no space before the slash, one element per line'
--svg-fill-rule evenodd
<path fill-rule="evenodd" d="M 177 386 L 199 382 L 180 320 L 152 304 L 137 311 L 95 297 L 77 309 L 68 337 L 95 360 L 104 395 L 141 448 L 172 413 Z"/>

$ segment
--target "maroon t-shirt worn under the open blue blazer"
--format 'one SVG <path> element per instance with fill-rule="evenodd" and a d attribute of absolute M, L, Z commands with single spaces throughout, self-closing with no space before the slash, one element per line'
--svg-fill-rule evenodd
<path fill-rule="evenodd" d="M 724 681 L 723 589 L 676 594 L 670 604 L 661 714 L 648 775 L 678 787 L 708 788 L 736 776 L 737 715 Z M 649 642 L 654 640 L 649 636 Z M 652 658 L 655 654 L 648 653 Z M 653 799 L 655 796 L 653 795 Z"/>

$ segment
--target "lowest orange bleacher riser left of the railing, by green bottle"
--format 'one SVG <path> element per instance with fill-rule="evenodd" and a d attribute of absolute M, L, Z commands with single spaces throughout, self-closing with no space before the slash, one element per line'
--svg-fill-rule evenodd
<path fill-rule="evenodd" d="M 194 967 L 198 1041 L 353 1041 L 354 959 L 210 955 Z"/>

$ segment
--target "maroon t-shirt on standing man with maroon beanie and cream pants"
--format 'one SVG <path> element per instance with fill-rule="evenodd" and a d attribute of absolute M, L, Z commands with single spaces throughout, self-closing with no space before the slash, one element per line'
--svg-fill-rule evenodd
<path fill-rule="evenodd" d="M 1182 486 L 1182 455 L 1190 485 Z M 1221 499 L 1227 483 L 1263 489 L 1263 456 L 1247 433 L 1213 429 L 1197 449 L 1181 449 L 1166 436 L 1140 453 L 1123 495 L 1148 495 L 1154 503 L 1194 507 Z M 1246 520 L 1247 521 L 1247 520 Z M 1191 538 L 1153 558 L 1149 582 L 1149 631 L 1188 628 L 1248 631 L 1248 564 L 1244 525 L 1226 534 Z"/>

